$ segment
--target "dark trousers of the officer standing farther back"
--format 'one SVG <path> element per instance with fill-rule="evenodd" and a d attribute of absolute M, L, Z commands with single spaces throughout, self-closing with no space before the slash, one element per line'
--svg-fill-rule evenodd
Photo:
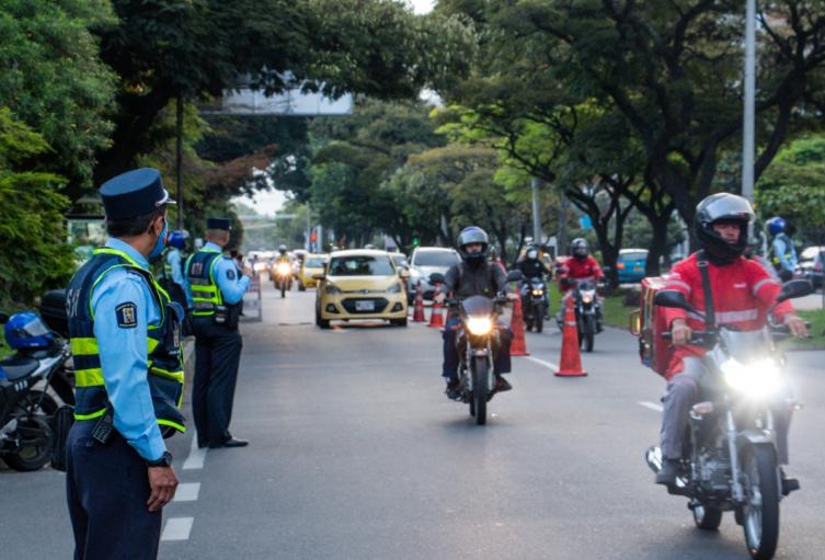
<path fill-rule="evenodd" d="M 230 437 L 229 422 L 243 341 L 237 330 L 213 324 L 210 318 L 196 318 L 192 327 L 195 333 L 192 413 L 197 444 L 219 446 Z"/>

